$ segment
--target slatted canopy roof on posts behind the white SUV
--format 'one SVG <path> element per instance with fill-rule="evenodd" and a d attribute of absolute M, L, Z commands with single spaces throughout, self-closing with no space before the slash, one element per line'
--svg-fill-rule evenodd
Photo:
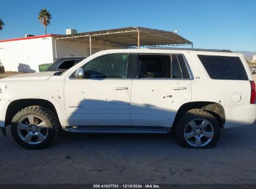
<path fill-rule="evenodd" d="M 192 45 L 192 42 L 166 30 L 149 29 L 145 27 L 125 27 L 120 29 L 99 30 L 79 34 L 60 35 L 56 39 L 85 39 L 91 37 L 113 44 L 136 47 L 138 39 L 140 46 L 156 47 L 161 45 Z"/>

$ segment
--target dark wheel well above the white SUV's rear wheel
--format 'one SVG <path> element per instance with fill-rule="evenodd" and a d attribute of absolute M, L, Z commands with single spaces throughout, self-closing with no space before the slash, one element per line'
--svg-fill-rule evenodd
<path fill-rule="evenodd" d="M 181 118 L 181 116 L 183 116 L 183 114 L 189 111 L 190 109 L 204 109 L 206 111 L 209 111 L 217 118 L 217 120 L 220 123 L 220 127 L 223 127 L 225 124 L 225 111 L 222 105 L 214 102 L 198 101 L 183 104 L 183 106 L 179 108 L 176 114 L 173 126 L 176 126 L 177 122 L 179 121 L 179 118 Z"/>

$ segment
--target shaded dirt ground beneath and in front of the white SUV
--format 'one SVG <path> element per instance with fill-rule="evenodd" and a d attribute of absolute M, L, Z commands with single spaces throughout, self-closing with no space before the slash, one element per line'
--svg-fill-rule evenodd
<path fill-rule="evenodd" d="M 256 75 L 254 75 L 256 79 Z M 222 129 L 214 149 L 171 135 L 69 134 L 44 150 L 0 137 L 0 183 L 256 183 L 256 124 Z"/>

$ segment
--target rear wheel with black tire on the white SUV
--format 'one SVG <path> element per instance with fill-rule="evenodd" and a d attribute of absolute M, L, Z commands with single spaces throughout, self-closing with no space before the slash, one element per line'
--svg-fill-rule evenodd
<path fill-rule="evenodd" d="M 206 129 L 211 129 L 211 138 L 204 136 L 204 133 L 207 132 L 205 130 L 201 130 L 200 121 L 205 121 L 209 124 L 206 126 Z M 207 122 L 208 121 L 208 122 Z M 191 123 L 196 123 L 196 129 L 192 129 L 190 126 Z M 198 123 L 197 123 L 198 122 Z M 198 126 L 197 126 L 198 124 Z M 191 131 L 185 131 L 185 129 L 191 129 Z M 204 128 L 203 128 L 204 129 Z M 207 132 L 210 133 L 210 132 Z M 185 139 L 185 135 L 190 137 L 189 139 Z M 191 109 L 187 111 L 178 121 L 178 124 L 174 127 L 174 135 L 176 141 L 178 142 L 181 147 L 189 148 L 189 149 L 209 149 L 216 145 L 217 141 L 220 137 L 220 124 L 219 121 L 208 111 L 204 109 Z M 192 135 L 192 136 L 191 136 Z M 198 137 L 197 137 L 198 136 Z M 199 146 L 197 145 L 197 138 L 199 141 L 202 142 L 204 139 L 205 145 Z M 194 143 L 193 143 L 194 140 Z M 208 143 L 207 143 L 208 142 Z M 199 142 L 200 144 L 200 142 Z M 202 143 L 204 144 L 204 143 Z"/>

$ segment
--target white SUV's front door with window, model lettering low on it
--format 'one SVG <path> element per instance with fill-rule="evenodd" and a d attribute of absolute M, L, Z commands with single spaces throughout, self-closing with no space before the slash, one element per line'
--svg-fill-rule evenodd
<path fill-rule="evenodd" d="M 128 54 L 95 58 L 83 66 L 85 78 L 65 80 L 65 110 L 70 126 L 130 126 L 131 79 Z"/>

